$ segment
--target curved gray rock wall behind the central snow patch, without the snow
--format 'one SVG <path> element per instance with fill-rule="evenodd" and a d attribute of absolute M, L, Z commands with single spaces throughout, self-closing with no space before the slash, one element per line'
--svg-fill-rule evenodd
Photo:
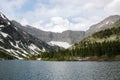
<path fill-rule="evenodd" d="M 47 32 L 42 31 L 36 28 L 33 28 L 31 26 L 21 26 L 16 21 L 12 21 L 17 27 L 21 28 L 22 30 L 28 32 L 29 34 L 45 41 L 62 41 L 62 42 L 68 42 L 69 44 L 74 44 L 80 40 L 82 40 L 85 36 L 84 31 L 64 31 L 62 33 L 54 33 L 54 32 Z"/>

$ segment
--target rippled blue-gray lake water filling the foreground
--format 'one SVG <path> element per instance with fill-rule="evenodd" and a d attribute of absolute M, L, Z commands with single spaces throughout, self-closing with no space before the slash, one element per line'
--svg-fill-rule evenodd
<path fill-rule="evenodd" d="M 0 61 L 0 80 L 120 80 L 120 62 Z"/>

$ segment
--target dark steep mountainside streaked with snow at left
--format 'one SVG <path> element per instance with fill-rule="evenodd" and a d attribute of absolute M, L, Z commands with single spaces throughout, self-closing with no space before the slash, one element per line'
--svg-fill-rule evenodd
<path fill-rule="evenodd" d="M 0 13 L 0 58 L 24 59 L 56 49 L 59 47 L 50 46 L 19 29 L 4 14 Z"/>

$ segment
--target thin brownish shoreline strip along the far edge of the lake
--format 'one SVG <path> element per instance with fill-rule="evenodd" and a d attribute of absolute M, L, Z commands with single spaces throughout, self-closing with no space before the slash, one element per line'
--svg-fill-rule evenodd
<path fill-rule="evenodd" d="M 104 61 L 120 61 L 120 55 L 114 56 L 114 57 L 106 57 L 106 56 L 90 56 L 90 57 L 70 57 L 70 58 L 63 58 L 63 59 L 57 59 L 57 58 L 35 58 L 35 59 L 4 59 L 0 58 L 0 61 L 4 60 L 24 60 L 24 61 L 75 61 L 75 62 L 84 62 L 84 61 L 97 61 L 97 62 L 104 62 Z"/>

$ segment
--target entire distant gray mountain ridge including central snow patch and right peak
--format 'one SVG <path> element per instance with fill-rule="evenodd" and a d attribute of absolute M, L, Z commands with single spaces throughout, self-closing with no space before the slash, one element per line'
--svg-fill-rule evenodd
<path fill-rule="evenodd" d="M 42 41 L 47 42 L 50 45 L 58 45 L 64 48 L 68 48 L 72 46 L 74 43 L 79 42 L 88 36 L 91 36 L 95 32 L 111 28 L 114 25 L 114 23 L 119 19 L 120 19 L 119 15 L 112 15 L 105 18 L 101 22 L 91 26 L 90 29 L 88 29 L 87 31 L 67 30 L 62 33 L 42 31 L 40 29 L 36 29 L 28 25 L 22 26 L 20 23 L 16 21 L 12 21 L 12 23 L 16 25 L 18 28 L 31 34 L 32 36 L 35 36 L 38 39 L 41 39 Z"/>

